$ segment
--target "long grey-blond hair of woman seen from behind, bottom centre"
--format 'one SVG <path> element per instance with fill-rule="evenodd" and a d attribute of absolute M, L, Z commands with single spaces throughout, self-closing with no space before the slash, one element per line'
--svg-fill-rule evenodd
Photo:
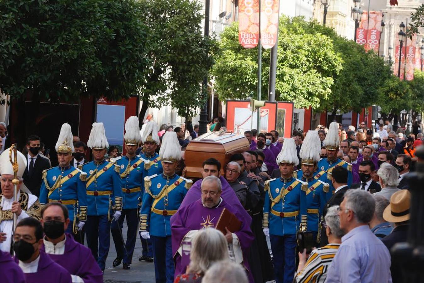
<path fill-rule="evenodd" d="M 213 263 L 222 260 L 229 260 L 224 234 L 214 228 L 199 230 L 192 240 L 190 272 L 204 274 Z"/>

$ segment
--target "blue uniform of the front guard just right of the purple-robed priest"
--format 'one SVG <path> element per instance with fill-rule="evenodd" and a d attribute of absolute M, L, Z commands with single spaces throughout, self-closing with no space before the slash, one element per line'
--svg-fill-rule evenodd
<path fill-rule="evenodd" d="M 262 227 L 269 228 L 275 279 L 292 282 L 296 268 L 298 230 L 307 230 L 305 186 L 293 177 L 265 182 Z"/>

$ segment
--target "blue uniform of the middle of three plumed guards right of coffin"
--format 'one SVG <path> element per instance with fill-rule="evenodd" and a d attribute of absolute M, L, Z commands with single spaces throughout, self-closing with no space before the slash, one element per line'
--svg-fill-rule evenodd
<path fill-rule="evenodd" d="M 308 231 L 312 231 L 317 243 L 321 240 L 321 221 L 324 220 L 323 211 L 327 202 L 326 194 L 329 192 L 329 184 L 315 179 L 313 176 L 307 179 L 303 176 L 303 171 L 296 171 L 297 178 L 302 182 L 307 182 L 306 207 L 308 213 Z M 318 170 L 314 175 L 318 174 Z"/>

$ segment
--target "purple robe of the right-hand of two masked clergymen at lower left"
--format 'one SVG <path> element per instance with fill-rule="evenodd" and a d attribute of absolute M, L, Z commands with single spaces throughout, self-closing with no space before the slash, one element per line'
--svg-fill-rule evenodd
<path fill-rule="evenodd" d="M 40 247 L 45 252 L 44 244 Z M 77 275 L 84 283 L 102 283 L 103 273 L 95 261 L 91 250 L 75 242 L 71 234 L 66 234 L 63 255 L 47 254 L 53 261 L 63 266 L 71 275 Z"/>

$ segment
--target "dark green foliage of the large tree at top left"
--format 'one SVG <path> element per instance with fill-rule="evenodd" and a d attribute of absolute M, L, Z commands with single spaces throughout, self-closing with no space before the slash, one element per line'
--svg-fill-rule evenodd
<path fill-rule="evenodd" d="M 137 93 L 149 62 L 141 15 L 135 0 L 0 1 L 0 89 L 33 101 Z"/>

